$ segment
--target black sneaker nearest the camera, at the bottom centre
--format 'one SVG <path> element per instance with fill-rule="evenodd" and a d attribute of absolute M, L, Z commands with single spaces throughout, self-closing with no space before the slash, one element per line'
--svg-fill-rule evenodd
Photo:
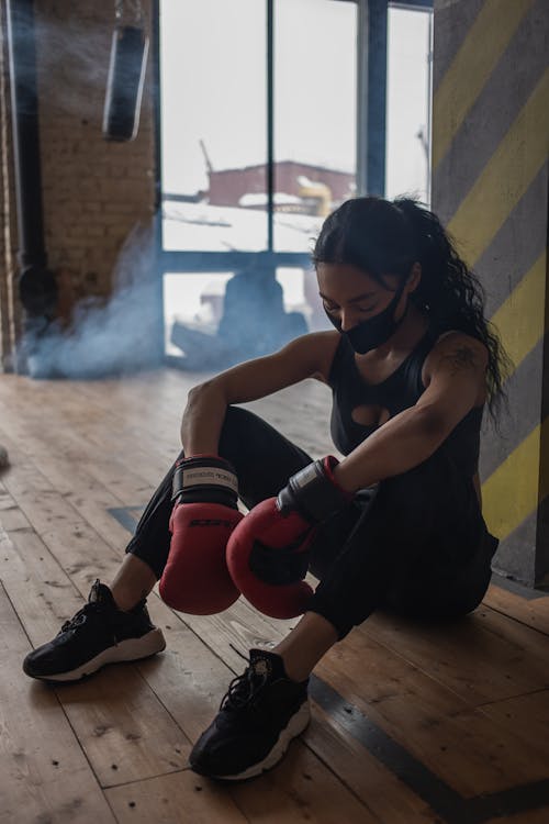
<path fill-rule="evenodd" d="M 189 758 L 201 776 L 237 781 L 273 767 L 309 724 L 306 681 L 291 681 L 276 653 L 251 649 L 249 667 L 234 678 L 220 712 Z"/>

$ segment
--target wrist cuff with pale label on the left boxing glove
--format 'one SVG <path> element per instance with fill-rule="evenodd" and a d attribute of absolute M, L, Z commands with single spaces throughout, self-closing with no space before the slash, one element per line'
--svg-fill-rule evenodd
<path fill-rule="evenodd" d="M 176 464 L 171 500 L 178 503 L 223 503 L 236 508 L 238 481 L 227 460 L 195 455 Z"/>

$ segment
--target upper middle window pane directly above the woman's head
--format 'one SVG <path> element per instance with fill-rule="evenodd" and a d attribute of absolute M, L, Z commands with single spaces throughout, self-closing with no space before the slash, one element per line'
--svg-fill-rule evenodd
<path fill-rule="evenodd" d="M 274 3 L 274 248 L 307 252 L 355 193 L 357 7 Z"/>

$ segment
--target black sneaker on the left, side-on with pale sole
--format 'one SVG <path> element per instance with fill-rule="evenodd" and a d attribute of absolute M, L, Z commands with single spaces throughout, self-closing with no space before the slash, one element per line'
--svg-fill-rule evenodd
<path fill-rule="evenodd" d="M 29 653 L 23 670 L 45 681 L 77 681 L 116 661 L 133 661 L 160 653 L 166 642 L 150 623 L 145 601 L 130 612 L 116 606 L 99 579 L 88 603 L 66 621 L 53 641 Z"/>

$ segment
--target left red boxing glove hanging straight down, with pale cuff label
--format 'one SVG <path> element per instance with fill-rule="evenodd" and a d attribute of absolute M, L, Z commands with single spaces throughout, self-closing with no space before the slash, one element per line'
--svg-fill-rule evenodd
<path fill-rule="evenodd" d="M 240 594 L 225 558 L 228 537 L 243 517 L 233 468 L 215 456 L 183 458 L 173 474 L 173 500 L 160 598 L 193 615 L 222 612 Z"/>

